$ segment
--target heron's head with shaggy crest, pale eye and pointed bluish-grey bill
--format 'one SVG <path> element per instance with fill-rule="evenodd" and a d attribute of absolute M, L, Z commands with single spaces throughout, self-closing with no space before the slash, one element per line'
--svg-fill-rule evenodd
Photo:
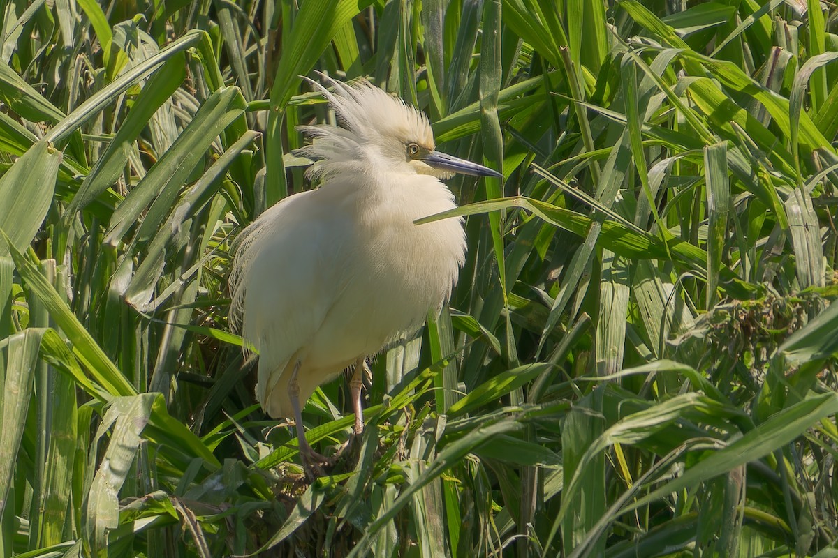
<path fill-rule="evenodd" d="M 303 155 L 318 160 L 312 169 L 315 174 L 336 172 L 334 163 L 365 161 L 387 171 L 415 172 L 437 178 L 452 177 L 455 172 L 475 177 L 503 177 L 483 165 L 436 151 L 427 116 L 366 79 L 352 84 L 328 79 L 328 83 L 331 90 L 316 85 L 344 127 L 303 127 L 315 138 L 312 146 L 300 150 Z"/>

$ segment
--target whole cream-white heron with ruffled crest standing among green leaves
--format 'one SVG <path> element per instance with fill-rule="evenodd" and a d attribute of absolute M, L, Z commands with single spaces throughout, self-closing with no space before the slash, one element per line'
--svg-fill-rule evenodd
<path fill-rule="evenodd" d="M 314 82 L 312 82 L 314 83 Z M 259 354 L 256 398 L 293 418 L 303 463 L 323 457 L 305 438 L 301 403 L 354 365 L 363 430 L 365 359 L 418 330 L 447 304 L 466 251 L 462 218 L 416 225 L 456 207 L 442 178 L 497 171 L 434 149 L 420 110 L 364 79 L 315 84 L 343 127 L 304 126 L 299 152 L 320 187 L 283 199 L 241 231 L 230 273 L 231 322 Z"/>

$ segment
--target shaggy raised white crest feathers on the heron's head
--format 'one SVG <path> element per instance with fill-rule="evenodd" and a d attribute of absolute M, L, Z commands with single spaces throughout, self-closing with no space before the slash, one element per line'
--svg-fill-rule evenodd
<path fill-rule="evenodd" d="M 433 146 L 433 131 L 421 110 L 406 105 L 403 100 L 387 95 L 366 79 L 353 84 L 342 84 L 328 79 L 332 90 L 315 81 L 334 109 L 344 128 L 333 125 L 299 126 L 299 130 L 313 138 L 310 145 L 295 154 L 315 161 L 306 172 L 312 181 L 327 182 L 342 172 L 366 172 L 375 166 L 369 160 L 365 146 L 375 144 L 382 137 L 397 137 L 405 141 L 420 141 Z"/>

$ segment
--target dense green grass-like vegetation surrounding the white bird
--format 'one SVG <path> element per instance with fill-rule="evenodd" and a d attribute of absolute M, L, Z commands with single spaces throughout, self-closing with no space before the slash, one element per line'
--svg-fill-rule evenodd
<path fill-rule="evenodd" d="M 0 8 L 0 555 L 838 555 L 834 4 Z M 225 274 L 315 69 L 504 181 L 450 182 L 451 310 L 308 484 Z"/>

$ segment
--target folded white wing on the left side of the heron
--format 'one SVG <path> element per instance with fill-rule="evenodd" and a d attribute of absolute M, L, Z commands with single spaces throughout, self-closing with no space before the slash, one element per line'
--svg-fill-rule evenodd
<path fill-rule="evenodd" d="M 231 312 L 241 313 L 241 333 L 259 352 L 256 397 L 263 408 L 342 290 L 349 222 L 340 204 L 330 203 L 334 192 L 325 194 L 303 192 L 272 207 L 243 231 L 236 252 Z"/>

